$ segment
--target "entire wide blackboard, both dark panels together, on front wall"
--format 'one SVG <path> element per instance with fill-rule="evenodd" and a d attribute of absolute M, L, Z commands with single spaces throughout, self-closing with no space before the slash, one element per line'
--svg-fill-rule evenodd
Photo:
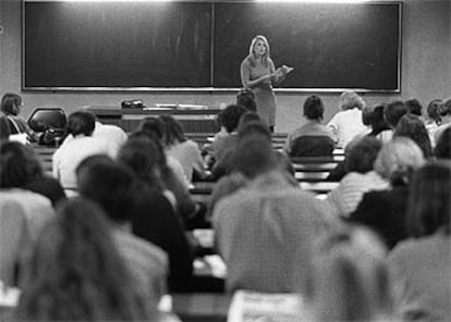
<path fill-rule="evenodd" d="M 398 2 L 24 1 L 23 89 L 228 89 L 265 35 L 287 89 L 400 90 Z"/>

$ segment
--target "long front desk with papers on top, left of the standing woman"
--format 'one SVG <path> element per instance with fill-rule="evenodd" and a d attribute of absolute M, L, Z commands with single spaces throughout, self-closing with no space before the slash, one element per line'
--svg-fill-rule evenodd
<path fill-rule="evenodd" d="M 90 106 L 88 110 L 96 114 L 103 124 L 113 124 L 125 132 L 135 131 L 146 117 L 172 115 L 183 125 L 185 133 L 216 133 L 219 131 L 217 116 L 220 109 L 174 109 L 174 108 L 148 108 L 148 109 L 120 109 L 119 107 Z"/>

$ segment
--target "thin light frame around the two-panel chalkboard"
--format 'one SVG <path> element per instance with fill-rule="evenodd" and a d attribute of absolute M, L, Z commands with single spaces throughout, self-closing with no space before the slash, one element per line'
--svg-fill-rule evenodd
<path fill-rule="evenodd" d="M 215 50 L 214 50 L 214 44 L 215 44 L 215 3 L 248 3 L 248 2 L 253 2 L 252 0 L 232 0 L 232 1 L 226 1 L 226 0 L 175 0 L 175 2 L 187 2 L 187 3 L 209 3 L 211 4 L 211 48 L 210 48 L 210 52 L 211 52 L 211 62 L 210 62 L 210 85 L 211 86 L 207 86 L 207 87 L 102 87 L 102 86 L 88 86 L 88 87 L 64 87 L 64 86 L 44 86 L 44 87 L 37 87 L 37 86 L 27 86 L 25 84 L 25 75 L 26 75 L 26 66 L 25 66 L 25 52 L 26 52 L 26 48 L 25 48 L 25 5 L 26 3 L 29 2 L 59 2 L 62 0 L 23 0 L 22 1 L 22 38 L 21 38 L 21 42 L 22 42 L 22 90 L 24 91 L 70 91 L 70 92 L 105 92 L 105 91 L 117 91 L 117 92 L 127 92 L 127 91 L 133 91 L 133 92 L 167 92 L 167 91 L 180 91 L 180 92 L 188 92 L 188 91 L 193 91 L 193 92 L 230 92 L 230 91 L 236 91 L 239 89 L 239 87 L 230 87 L 230 88 L 226 88 L 226 87 L 214 87 L 214 54 L 215 54 Z M 162 0 L 164 1 L 164 0 Z M 321 3 L 327 3 L 327 2 L 321 2 Z M 333 2 L 331 1 L 330 4 L 332 4 Z M 399 12 L 399 17 L 398 17 L 398 30 L 399 30 L 399 35 L 398 35 L 398 71 L 397 71 L 397 75 L 398 75 L 398 86 L 394 89 L 367 89 L 367 88 L 309 88 L 309 87 L 303 87 L 303 88 L 297 88 L 297 87 L 293 87 L 293 88 L 275 88 L 276 92 L 341 92 L 345 89 L 353 89 L 359 92 L 393 92 L 393 94 L 399 94 L 401 92 L 401 57 L 402 57 L 402 1 L 371 1 L 368 2 L 369 4 L 391 4 L 391 5 L 398 5 L 398 12 Z M 264 3 L 263 3 L 264 4 Z M 362 3 L 361 5 L 365 5 L 365 3 Z"/>

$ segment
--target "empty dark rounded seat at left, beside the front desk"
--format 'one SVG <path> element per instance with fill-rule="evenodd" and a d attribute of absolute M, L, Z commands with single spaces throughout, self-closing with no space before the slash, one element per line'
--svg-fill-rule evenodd
<path fill-rule="evenodd" d="M 65 112 L 61 108 L 38 108 L 28 119 L 28 126 L 35 132 L 45 132 L 49 128 L 64 128 L 68 122 Z"/>

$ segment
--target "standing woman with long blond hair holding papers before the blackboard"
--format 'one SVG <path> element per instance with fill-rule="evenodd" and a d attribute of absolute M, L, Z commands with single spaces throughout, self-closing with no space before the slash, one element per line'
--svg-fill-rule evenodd
<path fill-rule="evenodd" d="M 255 95 L 257 112 L 267 122 L 271 132 L 276 125 L 276 97 L 272 83 L 279 84 L 285 78 L 288 67 L 276 71 L 270 59 L 269 44 L 265 36 L 252 39 L 249 54 L 241 63 L 241 82 L 243 87 Z"/>

